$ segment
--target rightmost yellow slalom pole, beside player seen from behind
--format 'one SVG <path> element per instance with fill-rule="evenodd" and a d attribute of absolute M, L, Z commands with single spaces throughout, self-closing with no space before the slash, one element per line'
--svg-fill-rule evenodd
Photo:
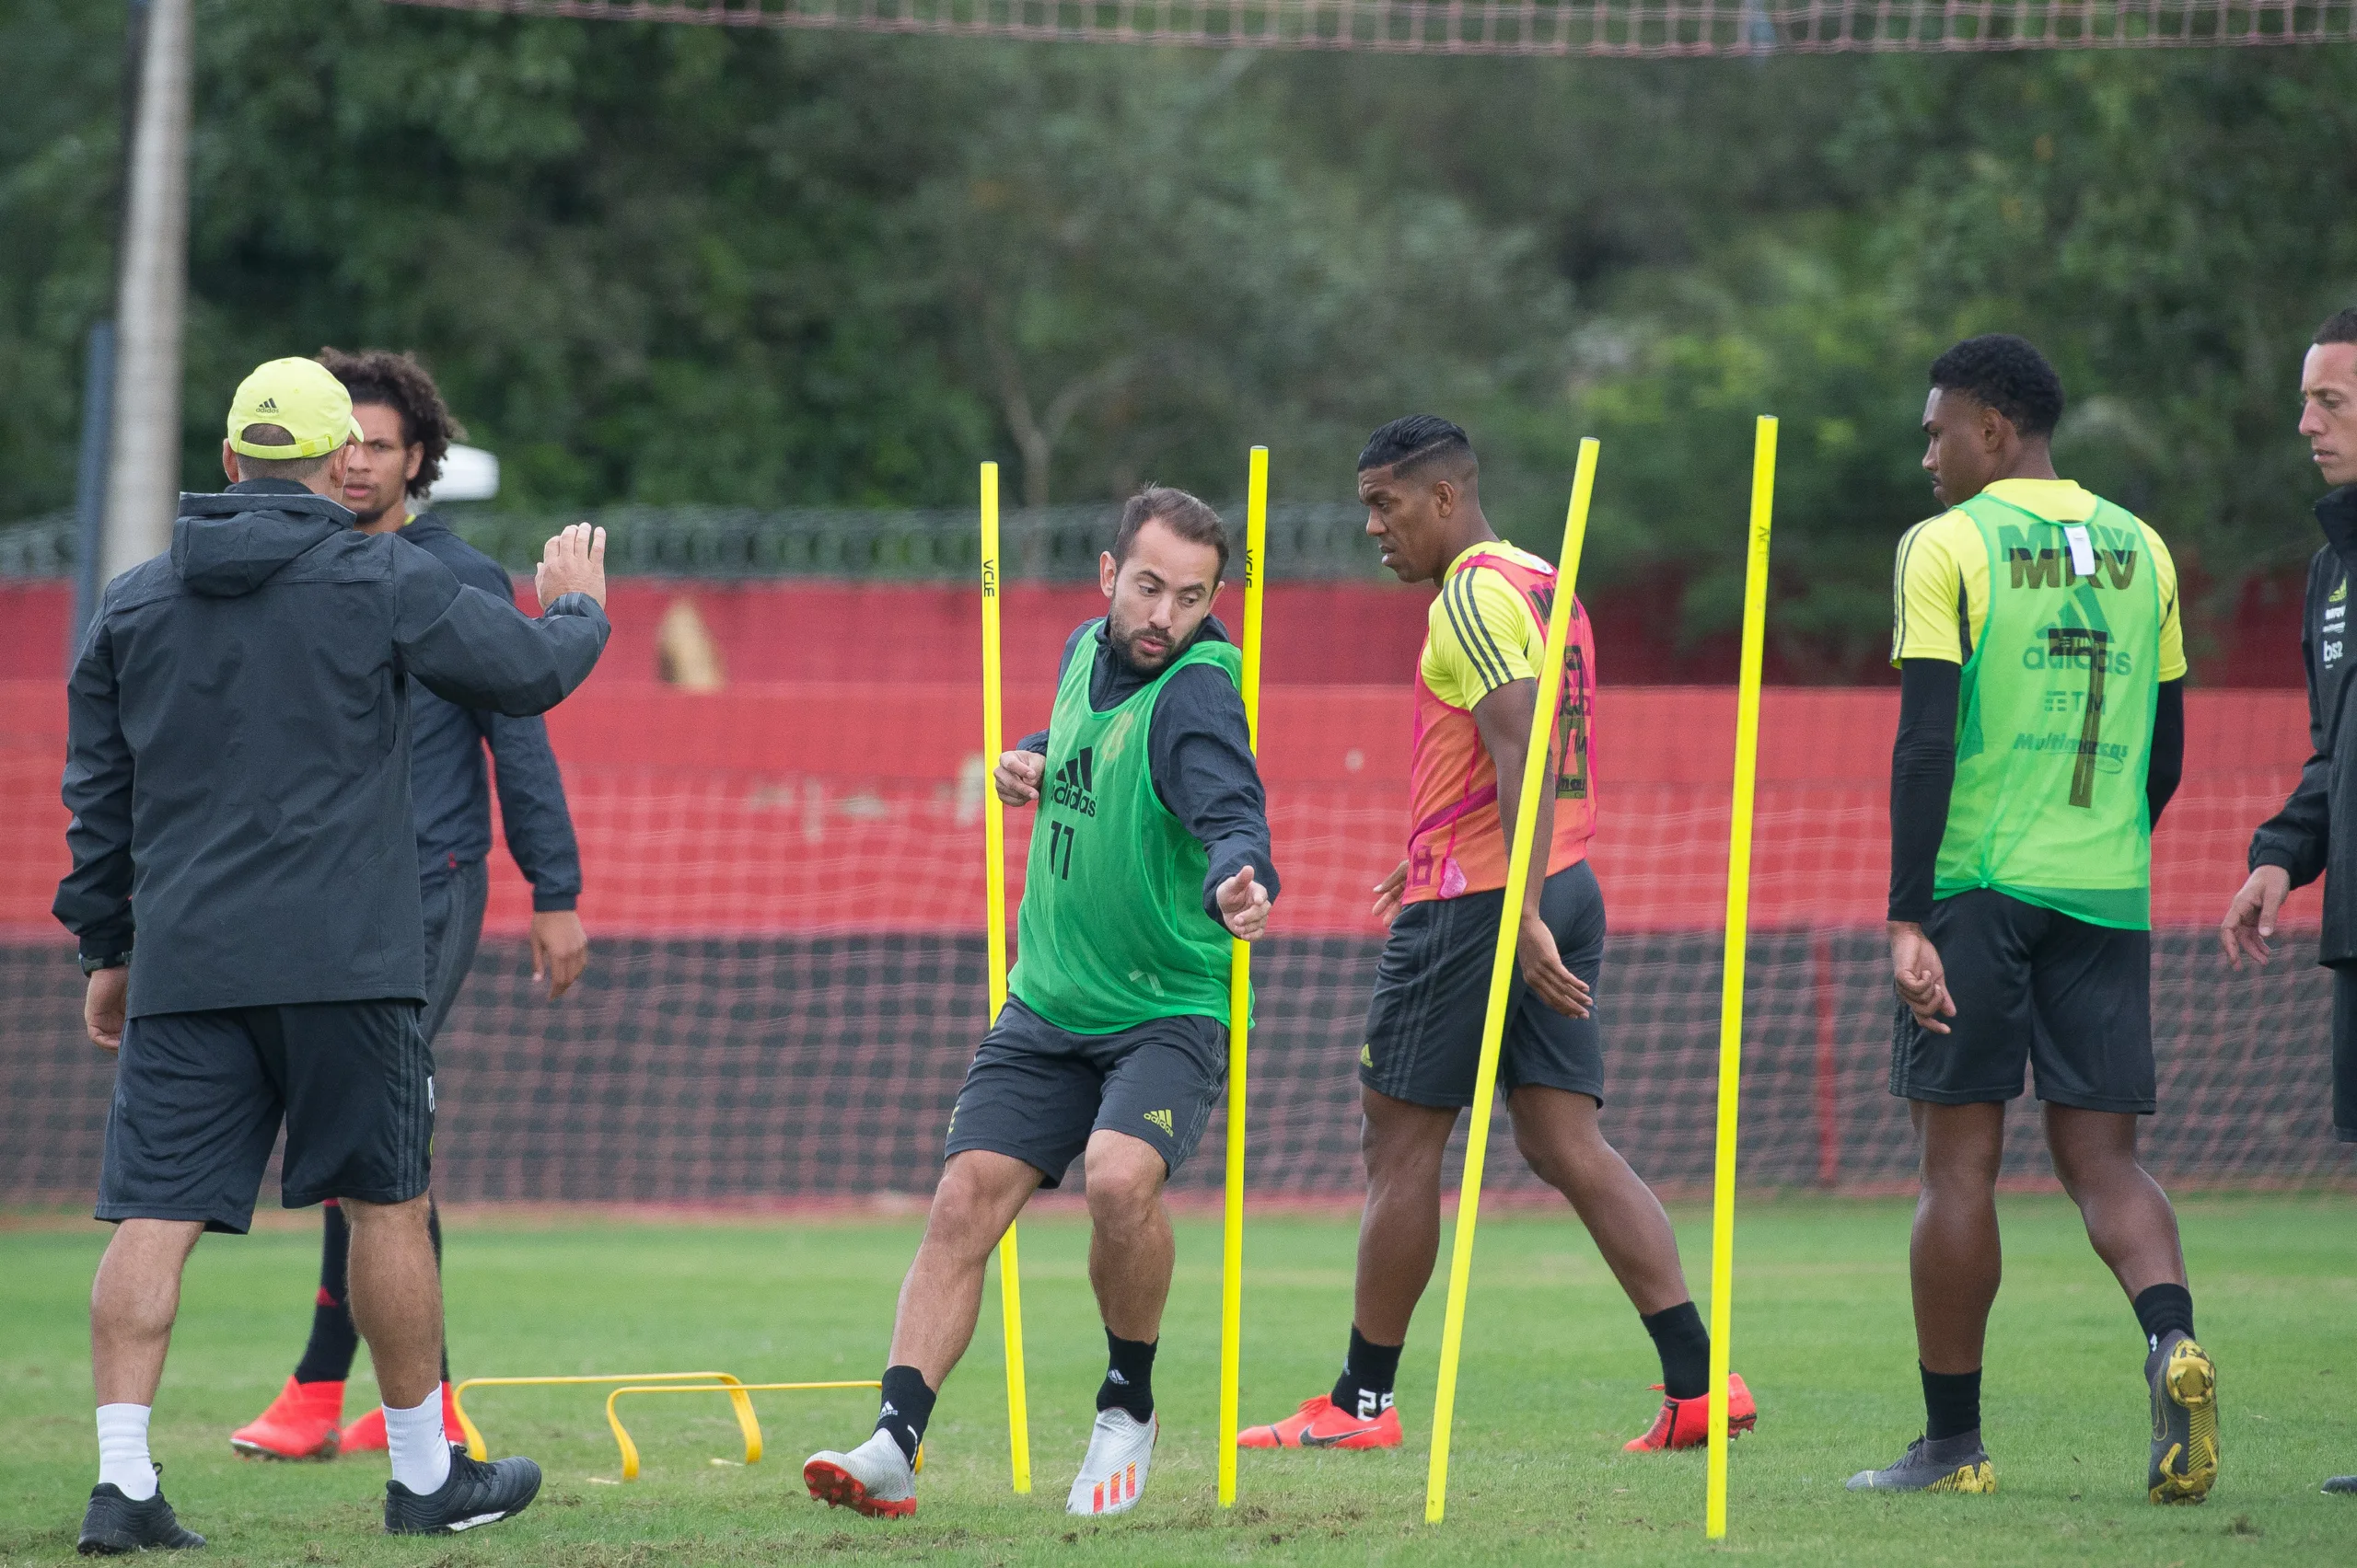
<path fill-rule="evenodd" d="M 1768 523 L 1775 511 L 1775 417 L 1751 445 L 1751 551 L 1744 565 L 1744 664 L 1735 697 L 1735 815 L 1728 824 L 1728 958 L 1718 986 L 1718 1165 L 1711 1182 L 1711 1460 L 1702 1533 L 1728 1533 L 1728 1333 L 1735 1321 L 1735 1123 L 1744 1078 L 1744 935 L 1751 925 L 1751 789 L 1761 749 L 1761 640 L 1768 629 Z"/>

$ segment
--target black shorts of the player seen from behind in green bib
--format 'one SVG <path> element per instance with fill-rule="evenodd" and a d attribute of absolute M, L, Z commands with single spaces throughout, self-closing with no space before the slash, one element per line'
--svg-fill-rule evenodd
<path fill-rule="evenodd" d="M 1933 904 L 1923 935 L 1940 949 L 1956 1017 L 1933 1034 L 1897 1003 L 1893 1095 L 2020 1099 L 2029 1064 L 2048 1104 L 2152 1114 L 2152 932 L 1973 888 Z"/>

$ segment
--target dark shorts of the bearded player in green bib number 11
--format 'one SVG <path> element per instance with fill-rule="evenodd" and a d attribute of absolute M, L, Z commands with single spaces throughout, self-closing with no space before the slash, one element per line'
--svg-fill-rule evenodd
<path fill-rule="evenodd" d="M 1127 1132 L 1171 1172 L 1195 1154 L 1228 1081 L 1228 1024 L 1155 1017 L 1120 1034 L 1070 1034 L 1016 998 L 983 1036 L 950 1111 L 948 1154 L 990 1149 L 1056 1187 L 1089 1135 Z"/>

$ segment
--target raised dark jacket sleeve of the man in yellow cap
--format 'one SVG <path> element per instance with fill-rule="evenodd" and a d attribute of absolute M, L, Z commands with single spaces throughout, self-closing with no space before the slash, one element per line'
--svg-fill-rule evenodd
<path fill-rule="evenodd" d="M 589 678 L 610 631 L 587 593 L 559 596 L 533 622 L 394 537 L 394 647 L 408 673 L 462 709 L 547 713 Z"/>

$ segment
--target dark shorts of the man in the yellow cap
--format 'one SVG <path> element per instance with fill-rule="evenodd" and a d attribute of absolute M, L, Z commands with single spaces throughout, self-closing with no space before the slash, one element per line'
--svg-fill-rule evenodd
<path fill-rule="evenodd" d="M 427 1189 L 434 1055 L 412 1001 L 151 1012 L 123 1029 L 99 1220 L 243 1236 L 288 1128 L 280 1198 L 405 1203 Z"/>

